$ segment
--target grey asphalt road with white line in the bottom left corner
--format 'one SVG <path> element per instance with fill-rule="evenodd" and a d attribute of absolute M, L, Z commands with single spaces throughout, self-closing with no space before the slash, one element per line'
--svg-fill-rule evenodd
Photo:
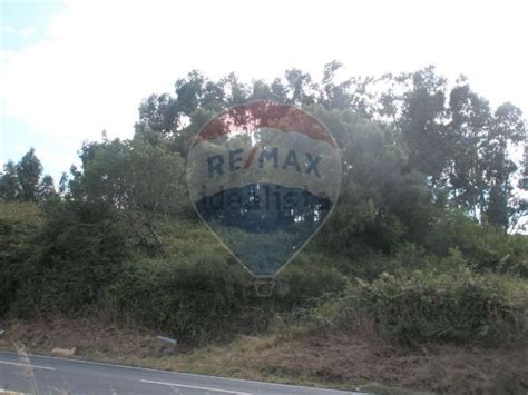
<path fill-rule="evenodd" d="M 31 394 L 354 394 L 0 352 L 0 389 Z M 358 394 L 358 393 L 355 393 Z"/>

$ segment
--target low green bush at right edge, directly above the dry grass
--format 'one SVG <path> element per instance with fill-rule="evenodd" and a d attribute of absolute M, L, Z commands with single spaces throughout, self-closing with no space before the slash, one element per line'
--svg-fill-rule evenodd
<path fill-rule="evenodd" d="M 389 337 L 405 344 L 423 342 L 499 343 L 527 335 L 526 285 L 508 278 L 453 268 L 384 274 L 360 282 L 338 308 L 336 323 L 373 318 Z"/>

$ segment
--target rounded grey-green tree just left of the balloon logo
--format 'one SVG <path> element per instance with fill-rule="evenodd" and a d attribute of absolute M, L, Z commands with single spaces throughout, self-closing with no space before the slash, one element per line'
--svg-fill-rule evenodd
<path fill-rule="evenodd" d="M 163 138 L 141 136 L 84 145 L 82 171 L 72 169 L 68 199 L 107 207 L 138 245 L 159 249 L 157 221 L 189 211 L 185 166 Z"/>

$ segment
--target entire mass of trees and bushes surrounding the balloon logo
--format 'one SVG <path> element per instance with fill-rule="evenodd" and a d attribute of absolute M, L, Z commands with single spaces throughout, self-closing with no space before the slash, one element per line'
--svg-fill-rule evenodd
<path fill-rule="evenodd" d="M 526 164 L 512 156 L 526 139 L 521 111 L 491 109 L 465 78 L 451 87 L 432 67 L 338 80 L 340 68 L 326 65 L 321 81 L 293 69 L 271 83 L 193 71 L 173 93 L 141 102 L 131 139 L 85 144 L 81 167 L 58 190 L 32 150 L 8 162 L 0 314 L 96 306 L 199 340 L 256 330 L 277 312 L 344 303 L 350 308 L 331 310 L 364 312 L 404 340 L 480 338 L 499 322 L 519 337 L 527 298 L 509 293 L 526 287 L 528 241 L 508 231 L 528 215 L 518 192 Z M 261 99 L 316 116 L 343 160 L 335 213 L 267 303 L 199 224 L 184 180 L 199 128 Z"/>

